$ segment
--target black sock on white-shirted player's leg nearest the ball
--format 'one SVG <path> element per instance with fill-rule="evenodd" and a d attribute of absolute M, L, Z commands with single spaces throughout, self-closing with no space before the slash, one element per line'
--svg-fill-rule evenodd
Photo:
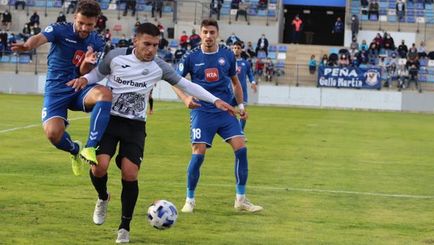
<path fill-rule="evenodd" d="M 134 206 L 136 206 L 137 197 L 139 197 L 139 181 L 122 180 L 122 194 L 120 200 L 122 203 L 122 217 L 120 220 L 119 230 L 129 231 L 129 222 L 133 218 Z"/>

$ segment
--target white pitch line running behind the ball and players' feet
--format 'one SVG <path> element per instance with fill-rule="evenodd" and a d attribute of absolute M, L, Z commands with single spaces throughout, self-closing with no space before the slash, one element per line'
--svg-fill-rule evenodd
<path fill-rule="evenodd" d="M 0 173 L 0 176 L 20 176 L 27 178 L 46 178 L 46 179 L 65 179 L 65 180 L 84 180 L 81 177 L 70 177 L 70 176 L 42 176 L 42 175 L 32 175 L 23 173 Z M 156 185 L 179 185 L 184 186 L 185 183 L 167 183 L 167 182 L 155 182 Z M 217 184 L 200 184 L 202 186 L 209 187 L 234 187 L 234 185 L 217 185 Z M 360 196 L 374 196 L 374 197 L 397 197 L 397 198 L 412 198 L 412 199 L 434 199 L 434 196 L 420 196 L 411 194 L 388 194 L 388 193 L 375 193 L 375 192 L 352 192 L 346 190 L 320 190 L 320 189 L 304 189 L 304 188 L 292 188 L 292 187 L 272 187 L 272 186 L 261 186 L 261 185 L 248 185 L 249 189 L 257 190 L 280 190 L 280 191 L 294 191 L 294 192 L 323 192 L 330 194 L 353 194 Z"/>

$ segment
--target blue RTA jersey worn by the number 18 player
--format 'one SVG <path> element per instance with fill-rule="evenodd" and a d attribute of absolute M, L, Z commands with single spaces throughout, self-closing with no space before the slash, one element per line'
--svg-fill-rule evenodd
<path fill-rule="evenodd" d="M 181 58 L 178 73 L 185 77 L 190 73 L 191 81 L 205 88 L 208 92 L 225 102 L 231 102 L 229 90 L 231 77 L 236 75 L 236 58 L 231 49 L 219 45 L 217 52 L 204 53 L 198 46 Z M 205 112 L 222 112 L 210 102 L 200 101 L 202 106 L 193 109 Z"/>

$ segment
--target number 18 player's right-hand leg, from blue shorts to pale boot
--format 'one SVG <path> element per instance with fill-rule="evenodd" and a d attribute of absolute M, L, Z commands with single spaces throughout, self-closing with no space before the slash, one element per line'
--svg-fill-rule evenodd
<path fill-rule="evenodd" d="M 231 145 L 235 154 L 234 173 L 236 180 L 236 199 L 234 206 L 238 210 L 247 210 L 250 212 L 261 211 L 261 206 L 251 204 L 245 197 L 245 184 L 248 178 L 248 159 L 241 126 L 238 124 L 235 117 L 231 117 L 227 113 L 222 114 L 221 120 L 226 121 L 226 124 L 222 128 L 219 128 L 217 133 Z"/>

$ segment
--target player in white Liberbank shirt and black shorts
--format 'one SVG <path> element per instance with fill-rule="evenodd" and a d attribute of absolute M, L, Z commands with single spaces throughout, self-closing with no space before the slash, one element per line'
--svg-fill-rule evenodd
<path fill-rule="evenodd" d="M 134 49 L 117 48 L 110 51 L 89 74 L 68 82 L 69 86 L 79 90 L 108 75 L 107 86 L 113 93 L 110 123 L 99 143 L 96 156 L 99 164 L 92 166 L 89 174 L 98 192 L 94 223 L 102 225 L 106 220 L 110 199 L 107 191 L 107 169 L 119 143 L 115 162 L 122 172 L 122 218 L 117 232 L 117 243 L 129 242 L 129 223 L 139 195 L 137 176 L 145 146 L 146 107 L 148 95 L 154 85 L 162 79 L 200 100 L 209 102 L 210 105 L 215 105 L 218 110 L 229 111 L 231 114 L 238 112 L 201 86 L 179 76 L 171 65 L 158 58 L 155 54 L 159 41 L 158 27 L 151 23 L 141 24 L 137 27 Z"/>

